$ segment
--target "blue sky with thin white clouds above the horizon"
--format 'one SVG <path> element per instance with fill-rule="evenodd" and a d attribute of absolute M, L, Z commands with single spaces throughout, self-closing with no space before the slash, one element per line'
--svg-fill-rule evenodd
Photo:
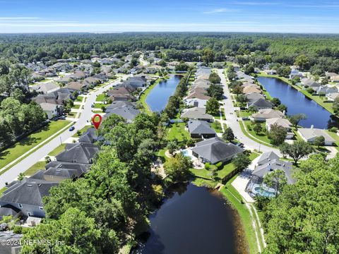
<path fill-rule="evenodd" d="M 339 33 L 339 1 L 0 0 L 0 32 Z"/>

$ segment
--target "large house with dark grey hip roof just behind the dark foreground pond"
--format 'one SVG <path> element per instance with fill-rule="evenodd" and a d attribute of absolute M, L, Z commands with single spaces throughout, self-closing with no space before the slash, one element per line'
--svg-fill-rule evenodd
<path fill-rule="evenodd" d="M 227 162 L 244 149 L 232 143 L 226 143 L 221 138 L 210 138 L 196 143 L 192 149 L 195 157 L 201 158 L 203 162 L 215 164 L 218 162 Z"/>

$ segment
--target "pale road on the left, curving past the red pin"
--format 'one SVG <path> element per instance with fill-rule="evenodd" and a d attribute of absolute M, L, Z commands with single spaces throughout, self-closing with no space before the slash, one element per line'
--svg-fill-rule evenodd
<path fill-rule="evenodd" d="M 124 75 L 123 79 L 126 78 L 127 75 Z M 87 121 L 90 120 L 90 118 L 93 115 L 92 108 L 90 107 L 90 105 L 95 103 L 97 95 L 100 95 L 103 92 L 109 90 L 112 87 L 112 85 L 117 85 L 118 83 L 120 83 L 120 79 L 121 78 L 118 78 L 118 80 L 115 80 L 112 83 L 100 87 L 99 89 L 95 90 L 95 92 L 90 92 L 86 99 L 84 109 L 81 111 L 80 118 L 77 119 L 76 123 L 73 125 L 75 128 L 74 131 L 69 131 L 69 128 L 66 128 L 66 131 L 57 135 L 48 143 L 38 148 L 35 152 L 32 152 L 32 154 L 28 155 L 28 157 L 25 157 L 25 159 L 18 162 L 18 164 L 8 169 L 8 171 L 4 172 L 4 174 L 0 176 L 0 188 L 4 188 L 4 186 L 6 186 L 5 184 L 6 182 L 11 183 L 11 181 L 15 180 L 20 173 L 25 172 L 27 169 L 32 167 L 32 165 L 34 165 L 36 162 L 40 161 L 40 159 L 47 156 L 49 152 L 52 152 L 55 148 L 61 145 L 61 142 L 64 142 L 65 140 L 71 138 L 71 136 L 74 135 L 76 131 L 79 131 L 83 127 L 85 127 L 85 125 L 88 123 Z"/>

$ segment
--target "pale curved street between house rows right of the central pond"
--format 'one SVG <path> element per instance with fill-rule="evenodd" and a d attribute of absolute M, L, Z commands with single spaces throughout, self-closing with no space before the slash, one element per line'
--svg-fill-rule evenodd
<path fill-rule="evenodd" d="M 227 80 L 225 78 L 223 71 L 224 71 L 223 69 L 218 69 L 218 75 L 221 78 L 221 84 L 224 87 L 224 95 L 226 97 L 226 99 L 224 99 L 223 102 L 225 107 L 227 126 L 232 128 L 232 131 L 234 135 L 237 137 L 237 140 L 239 140 L 241 143 L 244 143 L 244 146 L 247 149 L 250 150 L 256 149 L 260 150 L 261 152 L 275 152 L 278 156 L 282 157 L 283 155 L 278 149 L 268 147 L 266 145 L 261 145 L 260 143 L 257 143 L 255 140 L 252 140 L 251 138 L 248 138 L 246 135 L 244 135 L 238 122 L 241 119 L 238 118 L 237 114 L 235 113 L 235 108 L 232 104 L 231 93 L 230 90 L 228 89 Z"/>

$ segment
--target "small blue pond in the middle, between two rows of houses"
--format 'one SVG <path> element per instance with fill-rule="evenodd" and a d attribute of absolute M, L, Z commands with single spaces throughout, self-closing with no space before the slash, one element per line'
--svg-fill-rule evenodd
<path fill-rule="evenodd" d="M 150 110 L 160 112 L 165 109 L 169 97 L 174 94 L 181 78 L 181 75 L 170 75 L 169 79 L 162 80 L 153 87 L 146 97 L 146 103 Z"/>

